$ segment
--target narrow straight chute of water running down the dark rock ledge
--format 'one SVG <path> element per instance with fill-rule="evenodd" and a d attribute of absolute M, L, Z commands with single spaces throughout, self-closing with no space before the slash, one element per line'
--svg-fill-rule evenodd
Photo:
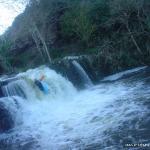
<path fill-rule="evenodd" d="M 91 81 L 91 79 L 89 78 L 88 74 L 85 72 L 85 70 L 82 68 L 82 66 L 76 61 L 72 61 L 72 64 L 75 66 L 77 72 L 79 73 L 79 75 L 81 76 L 82 80 L 84 81 L 85 85 L 88 86 L 92 86 L 93 83 Z"/>

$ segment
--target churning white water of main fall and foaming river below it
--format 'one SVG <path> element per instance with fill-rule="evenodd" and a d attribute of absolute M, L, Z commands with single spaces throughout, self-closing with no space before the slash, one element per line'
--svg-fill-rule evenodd
<path fill-rule="evenodd" d="M 43 74 L 50 85 L 48 95 L 34 86 L 34 79 Z M 101 83 L 82 91 L 47 67 L 17 78 L 4 89 L 11 91 L 19 83 L 26 98 L 10 92 L 10 99 L 17 96 L 19 108 L 16 126 L 0 135 L 2 150 L 115 150 L 123 149 L 125 142 L 143 142 L 132 132 L 141 129 L 149 112 L 143 104 L 150 98 L 147 78 Z"/>

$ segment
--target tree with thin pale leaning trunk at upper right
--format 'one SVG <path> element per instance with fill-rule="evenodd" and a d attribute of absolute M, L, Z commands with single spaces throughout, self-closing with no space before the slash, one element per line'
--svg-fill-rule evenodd
<path fill-rule="evenodd" d="M 113 0 L 110 3 L 111 13 L 115 17 L 113 18 L 113 21 L 116 20 L 125 25 L 126 30 L 139 54 L 142 54 L 142 50 L 130 28 L 130 25 L 133 20 L 135 20 L 135 18 L 132 18 L 133 14 L 136 14 L 134 17 L 139 17 L 140 10 L 143 7 L 143 2 L 143 0 Z"/>

